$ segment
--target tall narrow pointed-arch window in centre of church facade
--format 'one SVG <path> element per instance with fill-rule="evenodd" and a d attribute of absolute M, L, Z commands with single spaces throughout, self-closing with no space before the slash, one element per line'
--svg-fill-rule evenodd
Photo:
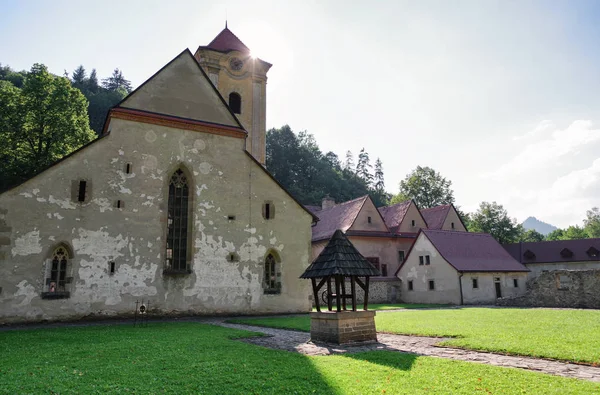
<path fill-rule="evenodd" d="M 170 271 L 187 271 L 189 193 L 188 179 L 178 169 L 169 182 L 166 266 Z"/>

